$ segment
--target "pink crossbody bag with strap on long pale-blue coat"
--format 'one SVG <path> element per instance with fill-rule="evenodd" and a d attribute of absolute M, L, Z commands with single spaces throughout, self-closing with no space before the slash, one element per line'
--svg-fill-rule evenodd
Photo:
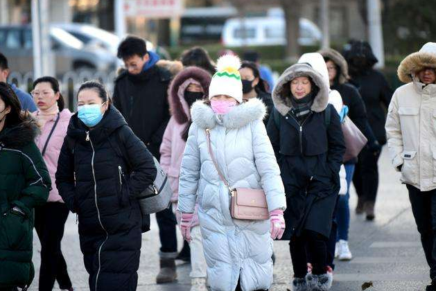
<path fill-rule="evenodd" d="M 251 188 L 232 188 L 224 178 L 223 174 L 218 168 L 215 157 L 213 156 L 211 146 L 211 133 L 206 129 L 207 148 L 211 156 L 213 166 L 215 166 L 218 176 L 221 181 L 229 189 L 229 195 L 232 197 L 230 214 L 232 218 L 243 220 L 267 220 L 270 219 L 268 212 L 268 204 L 266 203 L 265 192 L 262 189 Z"/>

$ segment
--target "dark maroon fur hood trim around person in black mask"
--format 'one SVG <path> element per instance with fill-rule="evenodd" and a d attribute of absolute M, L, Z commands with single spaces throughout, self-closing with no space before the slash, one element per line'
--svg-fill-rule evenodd
<path fill-rule="evenodd" d="M 168 87 L 168 103 L 170 104 L 171 114 L 179 124 L 188 122 L 191 119 L 189 105 L 184 100 L 184 91 L 189 84 L 194 83 L 202 87 L 204 96 L 209 96 L 209 84 L 211 74 L 199 67 L 186 67 L 177 74 L 171 85 Z"/>

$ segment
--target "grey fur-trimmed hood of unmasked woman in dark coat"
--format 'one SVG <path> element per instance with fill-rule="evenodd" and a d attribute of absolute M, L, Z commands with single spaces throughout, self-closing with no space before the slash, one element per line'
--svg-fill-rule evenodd
<path fill-rule="evenodd" d="M 291 80 L 302 76 L 311 78 L 320 89 L 313 100 L 312 111 L 322 112 L 326 109 L 329 103 L 329 87 L 324 82 L 322 75 L 309 64 L 294 64 L 281 74 L 279 80 L 277 80 L 277 85 L 272 90 L 272 102 L 281 115 L 286 116 L 292 108 L 290 96 L 284 96 L 284 86 L 288 85 Z"/>

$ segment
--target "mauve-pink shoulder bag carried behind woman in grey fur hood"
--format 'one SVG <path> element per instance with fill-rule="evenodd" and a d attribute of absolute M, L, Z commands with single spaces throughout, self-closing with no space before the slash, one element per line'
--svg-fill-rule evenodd
<path fill-rule="evenodd" d="M 368 140 L 348 116 L 345 116 L 341 126 L 347 148 L 343 158 L 343 161 L 346 162 L 350 159 L 356 159 Z"/>

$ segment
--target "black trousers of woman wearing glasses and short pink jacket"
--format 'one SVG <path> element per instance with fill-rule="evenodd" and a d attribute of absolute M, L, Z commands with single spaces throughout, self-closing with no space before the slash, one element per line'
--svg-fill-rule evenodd
<path fill-rule="evenodd" d="M 60 202 L 48 202 L 35 208 L 35 229 L 41 242 L 39 290 L 52 290 L 55 281 L 60 289 L 71 288 L 67 263 L 60 249 L 69 210 Z"/>

